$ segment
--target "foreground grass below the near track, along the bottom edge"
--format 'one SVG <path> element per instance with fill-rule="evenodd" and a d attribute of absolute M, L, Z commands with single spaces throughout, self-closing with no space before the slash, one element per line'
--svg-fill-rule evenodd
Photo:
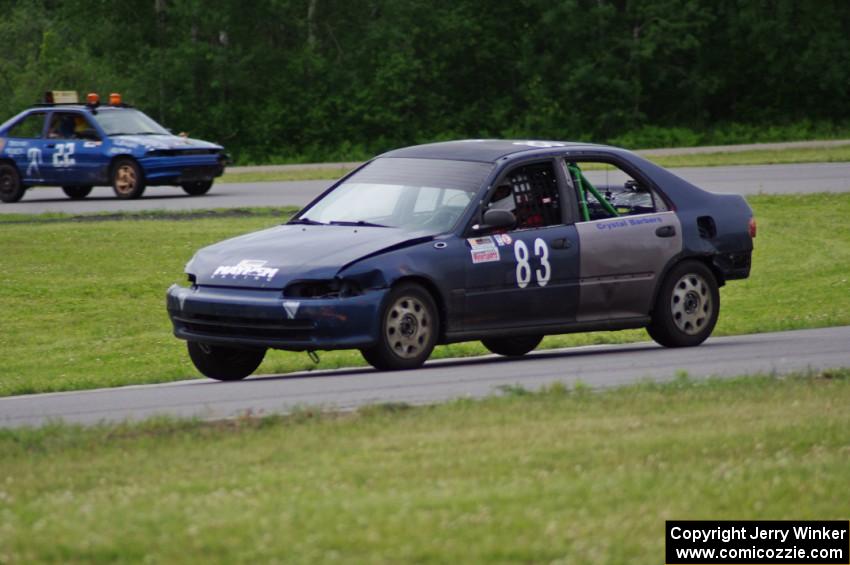
<path fill-rule="evenodd" d="M 850 372 L 0 431 L 0 563 L 663 563 L 667 519 L 846 520 Z"/>

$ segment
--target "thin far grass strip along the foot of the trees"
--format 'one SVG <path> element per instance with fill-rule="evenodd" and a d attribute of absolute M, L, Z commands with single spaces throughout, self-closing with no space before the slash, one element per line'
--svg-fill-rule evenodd
<path fill-rule="evenodd" d="M 730 165 L 777 165 L 790 163 L 835 163 L 850 161 L 850 145 L 797 149 L 769 149 L 735 153 L 697 153 L 648 157 L 662 167 L 721 167 Z M 219 182 L 266 182 L 338 179 L 348 172 L 339 167 L 290 169 L 284 171 L 230 172 Z"/>

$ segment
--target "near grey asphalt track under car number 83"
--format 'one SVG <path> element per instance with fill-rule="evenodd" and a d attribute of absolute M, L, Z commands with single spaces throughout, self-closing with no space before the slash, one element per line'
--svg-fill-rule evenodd
<path fill-rule="evenodd" d="M 287 413 L 299 407 L 351 410 L 375 403 L 429 404 L 482 398 L 500 387 L 536 389 L 581 381 L 594 388 L 651 379 L 786 374 L 850 366 L 850 326 L 709 339 L 699 347 L 653 343 L 537 351 L 518 360 L 496 356 L 433 361 L 414 371 L 341 369 L 252 377 L 235 383 L 198 379 L 164 385 L 0 399 L 0 426 L 140 420 L 155 415 L 231 418 Z"/>

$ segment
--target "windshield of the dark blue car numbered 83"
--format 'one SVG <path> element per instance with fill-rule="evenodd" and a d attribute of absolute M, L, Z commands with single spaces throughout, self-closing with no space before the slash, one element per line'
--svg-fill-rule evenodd
<path fill-rule="evenodd" d="M 432 235 L 449 231 L 493 165 L 440 159 L 376 159 L 293 223 L 385 226 Z"/>

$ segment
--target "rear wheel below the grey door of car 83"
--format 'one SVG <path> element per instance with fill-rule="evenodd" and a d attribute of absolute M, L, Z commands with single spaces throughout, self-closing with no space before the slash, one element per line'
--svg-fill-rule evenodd
<path fill-rule="evenodd" d="M 704 263 L 684 261 L 664 279 L 646 329 L 665 347 L 692 347 L 711 335 L 719 314 L 714 273 Z"/>

